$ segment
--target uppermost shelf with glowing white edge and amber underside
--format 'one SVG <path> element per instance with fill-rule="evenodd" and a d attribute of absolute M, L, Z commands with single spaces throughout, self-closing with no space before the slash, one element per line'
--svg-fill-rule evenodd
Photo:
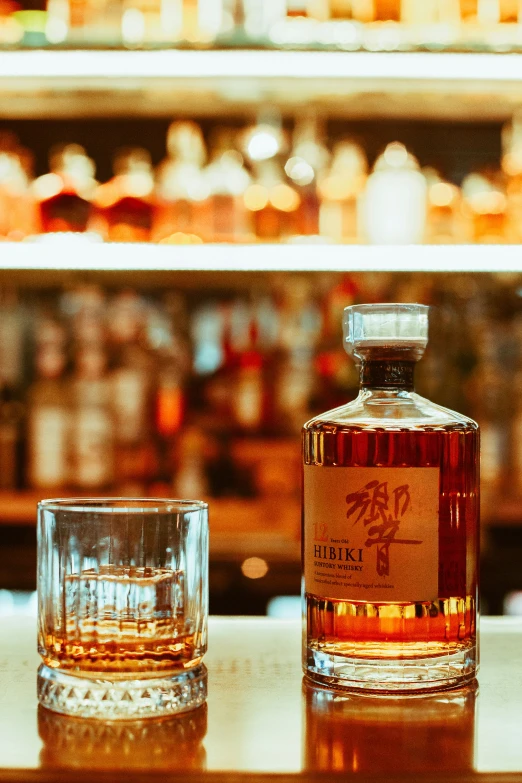
<path fill-rule="evenodd" d="M 280 50 L 4 50 L 4 118 L 244 115 L 260 103 L 349 118 L 502 121 L 519 54 Z"/>

